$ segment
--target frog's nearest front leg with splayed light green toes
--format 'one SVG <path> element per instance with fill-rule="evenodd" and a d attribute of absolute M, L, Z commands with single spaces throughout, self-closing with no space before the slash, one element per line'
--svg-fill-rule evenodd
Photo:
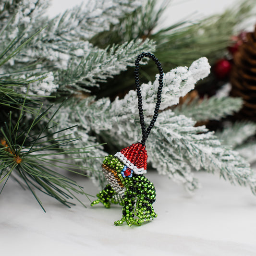
<path fill-rule="evenodd" d="M 134 204 L 135 204 L 135 193 L 134 187 L 129 187 L 129 189 L 125 190 L 124 195 L 122 196 L 123 199 L 123 207 L 122 207 L 122 219 L 117 220 L 114 222 L 116 226 L 121 225 L 124 221 L 127 223 L 129 227 L 132 225 L 140 226 L 134 219 Z"/>

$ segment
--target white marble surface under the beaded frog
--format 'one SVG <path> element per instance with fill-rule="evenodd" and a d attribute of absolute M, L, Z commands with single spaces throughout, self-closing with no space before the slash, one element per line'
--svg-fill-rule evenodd
<path fill-rule="evenodd" d="M 166 176 L 146 174 L 157 190 L 158 218 L 140 227 L 114 226 L 119 206 L 71 209 L 10 180 L 0 195 L 0 252 L 8 256 L 256 256 L 256 196 L 218 175 L 200 172 L 203 187 L 189 196 Z M 92 183 L 80 178 L 85 191 Z"/>

